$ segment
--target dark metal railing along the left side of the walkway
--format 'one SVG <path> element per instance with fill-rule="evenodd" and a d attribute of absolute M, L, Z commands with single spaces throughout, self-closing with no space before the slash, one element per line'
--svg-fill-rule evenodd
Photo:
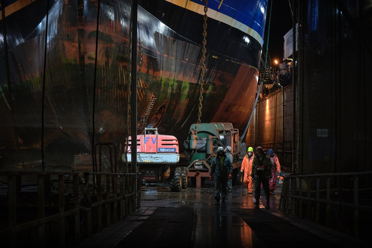
<path fill-rule="evenodd" d="M 7 178 L 0 190 L 4 210 L 0 237 L 6 247 L 24 242 L 44 247 L 56 241 L 59 247 L 79 245 L 140 207 L 136 173 L 15 171 L 1 175 Z M 36 184 L 23 181 L 30 177 Z"/>

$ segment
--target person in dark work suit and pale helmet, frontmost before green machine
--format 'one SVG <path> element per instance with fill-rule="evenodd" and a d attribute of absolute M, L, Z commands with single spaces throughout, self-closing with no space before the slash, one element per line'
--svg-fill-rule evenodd
<path fill-rule="evenodd" d="M 232 179 L 232 164 L 230 159 L 225 155 L 222 146 L 217 148 L 217 156 L 212 161 L 209 179 L 214 181 L 214 188 L 216 190 L 216 196 L 214 198 L 217 202 L 220 199 L 224 202 L 227 194 L 227 180 Z"/>

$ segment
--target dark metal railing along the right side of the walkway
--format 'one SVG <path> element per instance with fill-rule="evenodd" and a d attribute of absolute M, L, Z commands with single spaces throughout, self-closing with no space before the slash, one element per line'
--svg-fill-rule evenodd
<path fill-rule="evenodd" d="M 358 238 L 372 231 L 371 179 L 372 171 L 288 175 L 279 210 Z"/>

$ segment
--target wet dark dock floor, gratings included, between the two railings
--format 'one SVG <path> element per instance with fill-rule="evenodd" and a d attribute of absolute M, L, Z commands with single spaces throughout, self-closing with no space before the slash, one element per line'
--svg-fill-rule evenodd
<path fill-rule="evenodd" d="M 216 202 L 214 183 L 208 178 L 201 189 L 191 186 L 180 192 L 171 192 L 167 183 L 143 185 L 140 209 L 110 228 L 105 228 L 93 238 L 82 241 L 79 247 L 142 247 L 145 244 L 146 247 L 177 248 L 371 246 L 371 243 L 282 213 L 278 210 L 281 191 L 282 185 L 278 183 L 275 195 L 270 196 L 268 205 L 263 193 L 260 204 L 254 205 L 254 191 L 253 194 L 248 194 L 244 186 L 234 186 L 225 202 Z M 188 242 L 180 242 L 185 237 L 179 232 L 174 235 L 180 236 L 168 237 L 167 244 L 159 245 L 155 240 L 147 240 L 150 236 L 161 236 L 161 232 L 166 232 L 163 233 L 166 236 L 167 232 L 174 231 L 171 228 L 185 229 L 180 223 L 179 226 L 172 227 L 171 223 L 165 222 L 165 231 L 160 228 L 143 229 L 145 231 L 141 231 L 142 238 L 135 239 L 132 244 L 133 239 L 129 239 L 131 233 L 134 234 L 138 226 L 144 225 L 157 209 L 163 207 L 193 209 L 193 226 L 190 230 L 192 235 Z"/>

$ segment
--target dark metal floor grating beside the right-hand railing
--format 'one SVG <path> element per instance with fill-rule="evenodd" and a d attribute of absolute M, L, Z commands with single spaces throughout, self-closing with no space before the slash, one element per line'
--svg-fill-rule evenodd
<path fill-rule="evenodd" d="M 303 247 L 334 245 L 314 233 L 299 228 L 261 209 L 231 209 L 231 211 L 246 222 L 268 247 L 288 248 L 299 244 L 303 244 Z"/>

